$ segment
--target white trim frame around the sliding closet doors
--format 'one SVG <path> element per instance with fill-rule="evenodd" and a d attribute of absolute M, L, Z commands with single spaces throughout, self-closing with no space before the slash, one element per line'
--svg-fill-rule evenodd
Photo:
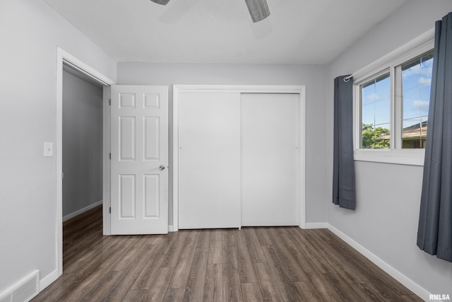
<path fill-rule="evenodd" d="M 273 85 L 173 86 L 173 226 L 179 230 L 179 94 L 180 93 L 295 93 L 299 95 L 299 227 L 306 228 L 306 87 Z"/>

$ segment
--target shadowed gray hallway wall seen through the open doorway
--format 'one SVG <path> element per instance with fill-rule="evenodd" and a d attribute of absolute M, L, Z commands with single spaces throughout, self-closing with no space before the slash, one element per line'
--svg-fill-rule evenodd
<path fill-rule="evenodd" d="M 102 200 L 103 88 L 63 73 L 63 216 Z"/>

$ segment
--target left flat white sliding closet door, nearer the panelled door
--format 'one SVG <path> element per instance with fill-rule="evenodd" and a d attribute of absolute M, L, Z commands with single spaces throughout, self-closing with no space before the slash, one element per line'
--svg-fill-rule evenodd
<path fill-rule="evenodd" d="M 240 227 L 240 94 L 179 94 L 179 228 Z"/>

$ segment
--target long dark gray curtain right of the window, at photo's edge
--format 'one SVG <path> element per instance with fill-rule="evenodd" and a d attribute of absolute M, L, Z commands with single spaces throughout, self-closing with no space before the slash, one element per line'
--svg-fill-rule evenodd
<path fill-rule="evenodd" d="M 452 13 L 436 21 L 417 246 L 452 262 Z"/>

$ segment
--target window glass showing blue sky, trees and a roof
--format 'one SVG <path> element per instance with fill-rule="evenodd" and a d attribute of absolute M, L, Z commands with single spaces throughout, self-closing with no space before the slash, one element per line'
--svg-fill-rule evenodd
<path fill-rule="evenodd" d="M 393 74 L 383 72 L 360 85 L 361 98 L 361 148 L 390 149 L 391 108 L 395 120 L 401 120 L 401 135 L 394 148 L 424 148 L 427 137 L 430 83 L 432 82 L 433 50 L 395 67 Z M 395 86 L 391 94 L 391 76 Z M 401 93 L 398 93 L 401 92 Z M 391 106 L 391 101 L 400 102 Z M 400 114 L 399 114 L 400 113 Z M 395 129 L 395 133 L 398 129 Z"/>

